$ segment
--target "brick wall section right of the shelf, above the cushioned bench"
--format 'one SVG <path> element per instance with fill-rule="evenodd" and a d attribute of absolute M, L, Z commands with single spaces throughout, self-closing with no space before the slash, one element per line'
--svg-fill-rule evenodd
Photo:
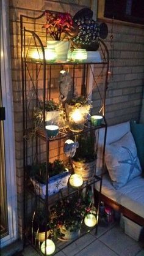
<path fill-rule="evenodd" d="M 107 25 L 109 34 L 106 44 L 111 56 L 112 23 Z M 129 119 L 139 121 L 144 85 L 144 29 L 142 26 L 128 26 L 114 21 L 112 45 L 113 78 L 109 77 L 106 96 L 108 125 Z M 95 93 L 93 103 L 95 104 Z"/>

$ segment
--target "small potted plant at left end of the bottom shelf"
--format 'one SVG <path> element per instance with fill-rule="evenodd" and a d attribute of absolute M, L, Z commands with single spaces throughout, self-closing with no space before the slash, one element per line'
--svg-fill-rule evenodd
<path fill-rule="evenodd" d="M 46 224 L 46 220 L 48 217 L 46 216 L 46 209 L 38 209 L 37 211 L 34 211 L 34 214 L 32 216 L 32 235 L 35 236 L 35 239 L 42 243 L 45 241 L 45 233 L 46 238 L 51 235 L 52 230 L 49 226 L 49 223 Z"/>

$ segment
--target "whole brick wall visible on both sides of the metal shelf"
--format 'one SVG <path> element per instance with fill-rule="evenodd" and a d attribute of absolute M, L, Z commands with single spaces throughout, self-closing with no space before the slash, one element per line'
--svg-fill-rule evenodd
<path fill-rule="evenodd" d="M 59 10 L 71 15 L 83 7 L 90 7 L 90 1 L 67 0 L 10 0 L 10 43 L 12 56 L 13 106 L 15 118 L 16 178 L 18 192 L 18 225 L 20 235 L 23 230 L 23 116 L 21 93 L 21 59 L 20 59 L 20 14 L 37 17 L 41 10 Z M 110 50 L 110 29 L 107 45 Z M 109 79 L 107 90 L 106 118 L 108 124 L 139 119 L 142 104 L 143 66 L 144 66 L 144 32 L 142 28 L 114 24 L 114 67 L 113 78 Z M 103 83 L 103 79 L 99 81 Z M 93 90 L 93 105 L 96 105 L 96 92 Z M 96 108 L 93 109 L 93 112 Z"/>

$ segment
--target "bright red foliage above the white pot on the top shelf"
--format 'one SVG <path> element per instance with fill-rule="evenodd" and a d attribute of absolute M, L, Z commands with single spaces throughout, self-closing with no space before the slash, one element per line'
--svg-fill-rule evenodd
<path fill-rule="evenodd" d="M 47 34 L 52 39 L 60 40 L 67 34 L 68 37 L 76 36 L 76 30 L 73 27 L 73 19 L 70 13 L 52 13 L 46 10 L 46 24 L 42 28 L 46 28 Z"/>

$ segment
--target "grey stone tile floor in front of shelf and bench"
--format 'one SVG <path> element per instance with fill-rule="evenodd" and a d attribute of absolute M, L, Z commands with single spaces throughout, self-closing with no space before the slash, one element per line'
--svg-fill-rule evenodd
<path fill-rule="evenodd" d="M 143 245 L 125 235 L 118 224 L 108 228 L 98 227 L 97 235 L 93 230 L 65 248 L 63 244 L 59 244 L 62 250 L 56 256 L 144 256 Z M 21 256 L 38 255 L 31 246 L 21 252 Z"/>

